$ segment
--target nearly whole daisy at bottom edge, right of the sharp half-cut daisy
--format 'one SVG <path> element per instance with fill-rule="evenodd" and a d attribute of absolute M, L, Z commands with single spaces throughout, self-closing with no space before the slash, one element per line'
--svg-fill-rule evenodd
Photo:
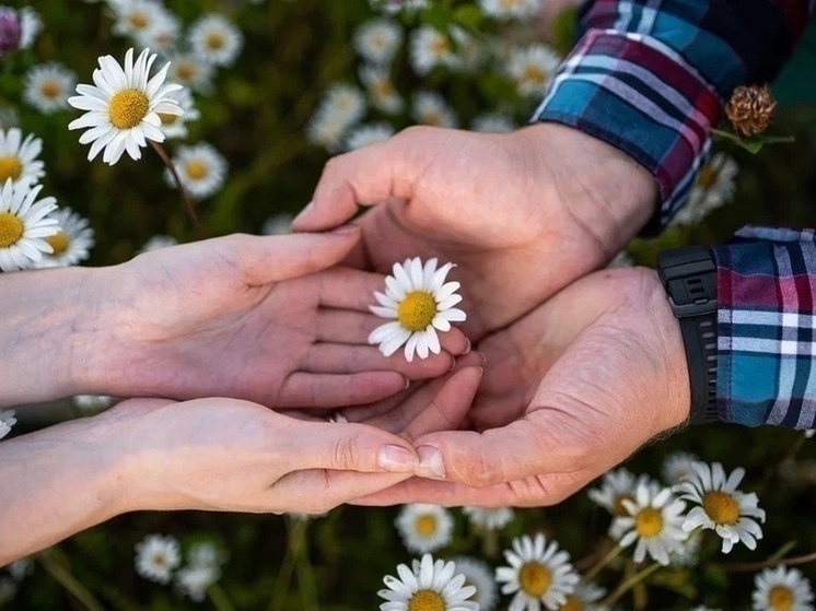
<path fill-rule="evenodd" d="M 558 543 L 547 540 L 540 532 L 513 539 L 512 550 L 504 551 L 510 566 L 496 569 L 496 580 L 504 585 L 502 594 L 514 594 L 511 611 L 538 611 L 558 609 L 575 591 L 578 573 L 570 564 L 570 555 L 558 551 Z"/>

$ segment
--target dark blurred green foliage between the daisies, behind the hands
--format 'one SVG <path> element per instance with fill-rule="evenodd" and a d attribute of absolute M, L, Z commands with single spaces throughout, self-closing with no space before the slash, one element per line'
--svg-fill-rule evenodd
<path fill-rule="evenodd" d="M 2 59 L 0 104 L 18 110 L 25 132 L 43 138 L 45 192 L 90 219 L 96 246 L 89 265 L 127 260 L 156 234 L 194 239 L 180 200 L 164 183 L 162 163 L 152 151 L 144 151 L 138 163 L 127 157 L 113 167 L 100 160 L 89 163 L 78 133 L 67 130 L 75 113 L 45 116 L 18 104 L 19 75 L 31 66 L 61 61 L 79 74 L 80 82 L 89 82 L 98 56 L 120 58 L 128 46 L 112 35 L 112 20 L 102 3 L 36 0 L 30 5 L 40 14 L 44 30 L 32 49 Z M 185 23 L 208 11 L 221 12 L 245 36 L 237 63 L 219 72 L 213 94 L 196 97 L 201 119 L 189 125 L 187 140 L 214 144 L 230 164 L 224 188 L 198 204 L 208 234 L 259 233 L 268 218 L 296 213 L 310 200 L 329 153 L 307 140 L 306 126 L 327 87 L 357 81 L 359 59 L 352 35 L 377 13 L 365 0 L 272 0 L 257 5 L 238 0 L 171 0 L 166 5 Z M 453 10 L 456 3 L 444 5 Z M 471 16 L 458 13 L 457 19 Z M 491 24 L 478 25 L 502 33 Z M 411 26 L 412 22 L 406 22 L 406 27 Z M 504 30 L 503 35 L 511 38 L 534 34 L 517 26 Z M 562 39 L 556 37 L 564 46 Z M 534 107 L 534 99 L 515 96 L 489 71 L 474 75 L 438 70 L 420 78 L 407 68 L 406 54 L 403 46 L 394 64 L 395 84 L 401 92 L 419 86 L 440 91 L 463 126 L 499 105 L 521 125 Z M 795 142 L 766 148 L 757 155 L 723 146 L 741 167 L 733 201 L 700 225 L 636 240 L 630 248 L 636 261 L 651 265 L 660 249 L 675 244 L 725 239 L 745 223 L 816 226 L 815 58 L 816 31 L 812 27 L 800 55 L 774 86 L 780 107 L 773 131 L 794 134 Z M 374 113 L 373 118 L 383 117 Z M 407 111 L 385 118 L 397 129 L 411 122 Z M 170 150 L 173 146 L 167 144 Z M 726 469 L 745 467 L 748 474 L 743 486 L 758 492 L 768 520 L 756 552 L 741 547 L 724 556 L 718 553 L 719 542 L 708 539 L 704 560 L 697 567 L 660 572 L 648 589 L 636 588 L 634 597 L 625 599 L 623 609 L 689 609 L 692 601 L 722 609 L 747 608 L 755 568 L 741 563 L 765 562 L 780 550 L 786 555 L 816 550 L 813 444 L 816 440 L 805 440 L 793 431 L 710 426 L 681 432 L 639 451 L 629 468 L 655 477 L 665 457 L 678 449 L 721 461 Z M 39 556 L 5 604 L 21 610 L 375 609 L 383 575 L 394 574 L 397 563 L 416 557 L 405 550 L 394 528 L 397 510 L 341 507 L 308 520 L 194 512 L 125 515 Z M 517 512 L 498 536 L 498 545 L 473 532 L 458 512 L 455 515 L 456 537 L 440 552 L 443 557 L 469 553 L 497 566 L 503 562 L 497 550 L 509 547 L 513 536 L 536 530 L 557 539 L 579 562 L 608 544 L 608 516 L 584 493 L 557 507 Z M 151 532 L 172 534 L 183 548 L 200 540 L 218 542 L 229 554 L 218 584 L 220 592 L 199 604 L 138 576 L 133 548 Z M 601 577 L 609 588 L 623 569 L 622 565 L 613 568 L 617 573 Z M 816 578 L 812 564 L 802 568 Z"/>

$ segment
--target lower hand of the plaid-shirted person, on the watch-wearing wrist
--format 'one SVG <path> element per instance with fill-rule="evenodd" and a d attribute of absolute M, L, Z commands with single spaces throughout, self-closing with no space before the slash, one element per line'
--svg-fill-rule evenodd
<path fill-rule="evenodd" d="M 416 440 L 418 474 L 368 504 L 558 503 L 684 423 L 690 395 L 679 325 L 656 272 L 603 270 L 479 344 L 481 432 Z"/>

